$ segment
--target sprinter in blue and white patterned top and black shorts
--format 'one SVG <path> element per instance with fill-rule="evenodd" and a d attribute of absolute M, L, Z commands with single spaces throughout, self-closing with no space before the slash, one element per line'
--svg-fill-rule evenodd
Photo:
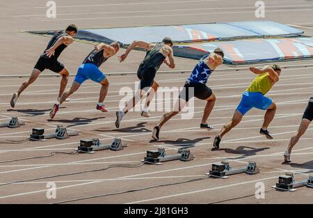
<path fill-rule="evenodd" d="M 186 79 L 186 83 L 182 92 L 179 94 L 179 100 L 175 104 L 175 108 L 162 116 L 159 123 L 154 127 L 152 132 L 152 138 L 159 140 L 159 132 L 164 123 L 166 123 L 170 118 L 175 116 L 181 111 L 186 103 L 194 97 L 201 100 L 206 100 L 207 105 L 204 108 L 204 114 L 202 117 L 202 122 L 200 128 L 212 130 L 213 127 L 207 124 L 207 119 L 211 114 L 211 111 L 215 104 L 215 94 L 209 88 L 206 83 L 207 79 L 211 75 L 211 72 L 215 70 L 219 65 L 223 64 L 224 52 L 220 48 L 214 49 L 214 52 L 211 52 L 208 55 L 205 55 L 200 59 L 200 61 L 195 65 L 193 72 L 191 72 L 190 77 Z"/>

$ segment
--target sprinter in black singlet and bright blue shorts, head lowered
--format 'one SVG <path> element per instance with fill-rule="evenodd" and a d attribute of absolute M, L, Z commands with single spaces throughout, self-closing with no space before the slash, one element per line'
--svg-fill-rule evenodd
<path fill-rule="evenodd" d="M 88 54 L 83 63 L 79 66 L 77 75 L 73 81 L 72 87 L 65 91 L 61 96 L 60 102 L 54 104 L 50 111 L 50 118 L 54 118 L 56 112 L 60 108 L 60 105 L 68 98 L 72 93 L 76 92 L 79 89 L 79 86 L 83 84 L 87 79 L 91 79 L 102 85 L 99 93 L 99 102 L 97 103 L 96 109 L 102 112 L 106 112 L 104 107 L 104 99 L 106 98 L 106 93 L 108 93 L 109 80 L 106 78 L 103 72 L 99 70 L 100 65 L 104 63 L 109 57 L 118 53 L 120 45 L 118 42 L 112 42 L 111 45 L 106 45 L 101 43 L 100 45 L 95 46 L 92 52 Z"/>

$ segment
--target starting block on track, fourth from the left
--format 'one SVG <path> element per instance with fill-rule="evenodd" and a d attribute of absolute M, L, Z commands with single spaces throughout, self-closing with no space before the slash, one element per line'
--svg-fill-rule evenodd
<path fill-rule="evenodd" d="M 167 155 L 164 148 L 158 150 L 147 150 L 147 157 L 142 161 L 147 164 L 162 164 L 161 162 L 180 159 L 182 161 L 190 161 L 195 155 L 184 148 L 180 148 L 176 155 Z"/>

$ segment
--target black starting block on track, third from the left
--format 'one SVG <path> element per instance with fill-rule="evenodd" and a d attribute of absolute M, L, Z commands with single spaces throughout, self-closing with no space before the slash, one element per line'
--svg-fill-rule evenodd
<path fill-rule="evenodd" d="M 77 148 L 79 153 L 90 153 L 93 154 L 97 150 L 122 150 L 127 145 L 122 146 L 122 140 L 119 138 L 115 138 L 110 145 L 102 145 L 99 139 L 84 139 L 81 140 L 80 145 Z"/>

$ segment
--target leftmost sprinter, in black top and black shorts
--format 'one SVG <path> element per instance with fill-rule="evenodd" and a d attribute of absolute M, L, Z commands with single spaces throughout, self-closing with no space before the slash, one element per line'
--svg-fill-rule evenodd
<path fill-rule="evenodd" d="M 69 72 L 65 66 L 58 62 L 58 56 L 63 52 L 63 50 L 67 47 L 67 45 L 72 44 L 74 41 L 74 37 L 77 34 L 77 26 L 71 24 L 67 26 L 65 31 L 59 31 L 54 34 L 54 36 L 49 41 L 47 48 L 40 55 L 35 67 L 33 68 L 33 72 L 31 72 L 31 77 L 28 81 L 24 81 L 24 83 L 19 87 L 17 93 L 13 94 L 13 97 L 10 101 L 11 107 L 15 107 L 15 103 L 19 98 L 19 95 L 27 88 L 30 84 L 32 84 L 40 75 L 42 71 L 45 69 L 49 69 L 53 72 L 57 72 L 62 76 L 60 90 L 58 92 L 58 100 L 60 100 L 61 95 L 63 94 L 65 87 L 67 85 Z"/>

